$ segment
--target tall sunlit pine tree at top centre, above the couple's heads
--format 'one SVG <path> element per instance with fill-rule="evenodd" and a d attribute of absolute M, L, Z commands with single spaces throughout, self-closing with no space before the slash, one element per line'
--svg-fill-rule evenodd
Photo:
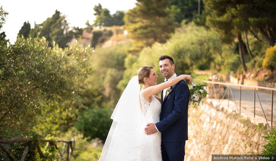
<path fill-rule="evenodd" d="M 174 32 L 174 21 L 169 19 L 168 0 L 137 0 L 136 6 L 124 17 L 125 28 L 138 53 L 154 42 L 164 43 Z"/>

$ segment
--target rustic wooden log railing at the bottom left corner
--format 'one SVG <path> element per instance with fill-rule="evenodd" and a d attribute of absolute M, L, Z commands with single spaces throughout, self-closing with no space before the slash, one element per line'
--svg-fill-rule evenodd
<path fill-rule="evenodd" d="M 16 159 L 14 157 L 12 157 L 9 150 L 3 144 L 11 144 L 11 143 L 18 143 L 18 142 L 30 142 L 30 141 L 31 141 L 30 138 L 12 138 L 12 139 L 7 139 L 7 140 L 0 139 L 0 148 L 7 154 L 7 156 L 9 157 L 9 159 L 11 161 L 16 161 Z M 60 155 L 60 160 L 63 160 L 63 155 L 65 154 L 65 149 L 66 149 L 66 153 L 67 153 L 66 160 L 69 161 L 70 156 L 72 155 L 73 150 L 75 149 L 75 140 L 74 139 L 71 139 L 70 141 L 64 141 L 64 140 L 53 141 L 53 140 L 47 140 L 47 139 L 39 139 L 39 141 L 36 141 L 34 143 L 34 150 L 37 149 L 40 158 L 43 158 L 43 153 L 40 149 L 39 143 L 44 143 L 44 142 L 47 142 L 46 147 L 49 146 L 50 143 L 52 143 L 57 150 L 58 150 L 58 146 L 56 145 L 56 142 L 64 142 L 63 150 Z M 67 148 L 66 148 L 66 145 L 67 145 Z M 20 161 L 26 160 L 28 152 L 29 152 L 29 146 L 27 145 L 25 150 L 23 151 Z"/>

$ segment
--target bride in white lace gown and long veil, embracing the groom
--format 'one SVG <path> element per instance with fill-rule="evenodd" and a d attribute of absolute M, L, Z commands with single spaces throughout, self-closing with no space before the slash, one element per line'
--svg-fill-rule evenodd
<path fill-rule="evenodd" d="M 152 66 L 142 66 L 125 88 L 111 119 L 99 161 L 161 161 L 161 133 L 146 135 L 147 123 L 160 120 L 161 98 L 155 94 L 180 80 L 190 83 L 190 75 L 180 75 L 157 85 L 157 74 Z M 140 84 L 143 85 L 140 91 Z"/>

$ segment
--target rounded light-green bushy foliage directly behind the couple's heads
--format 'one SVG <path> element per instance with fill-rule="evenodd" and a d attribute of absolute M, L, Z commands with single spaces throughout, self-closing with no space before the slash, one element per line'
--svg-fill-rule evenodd
<path fill-rule="evenodd" d="M 125 59 L 126 70 L 118 87 L 123 90 L 143 65 L 153 66 L 159 76 L 157 81 L 161 83 L 164 77 L 159 71 L 158 58 L 162 54 L 174 59 L 177 74 L 190 74 L 194 68 L 212 69 L 212 64 L 217 63 L 218 53 L 222 54 L 222 44 L 215 33 L 193 23 L 183 25 L 166 43 L 156 42 L 152 47 L 144 48 L 138 56 L 129 54 Z"/>

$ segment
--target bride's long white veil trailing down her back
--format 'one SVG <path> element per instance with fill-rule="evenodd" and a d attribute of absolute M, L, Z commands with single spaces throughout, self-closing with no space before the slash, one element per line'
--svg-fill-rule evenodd
<path fill-rule="evenodd" d="M 139 104 L 138 76 L 129 80 L 111 119 L 113 119 L 99 161 L 138 160 L 143 143 L 139 141 L 142 113 Z"/>

